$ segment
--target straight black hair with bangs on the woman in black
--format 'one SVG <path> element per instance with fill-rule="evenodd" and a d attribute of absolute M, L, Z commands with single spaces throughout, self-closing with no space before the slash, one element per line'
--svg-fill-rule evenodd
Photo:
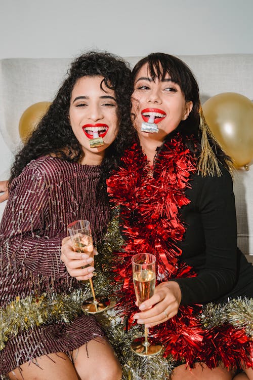
<path fill-rule="evenodd" d="M 148 65 L 150 76 L 153 80 L 155 80 L 155 78 L 164 80 L 165 75 L 168 73 L 172 81 L 180 86 L 182 92 L 185 95 L 185 100 L 192 101 L 193 103 L 193 107 L 189 113 L 188 118 L 181 121 L 176 130 L 171 132 L 166 137 L 165 141 L 171 139 L 176 133 L 180 131 L 183 139 L 185 140 L 185 144 L 196 157 L 199 157 L 201 154 L 202 136 L 200 130 L 199 114 L 200 98 L 198 84 L 191 69 L 178 57 L 165 53 L 151 53 L 137 62 L 133 68 L 132 75 L 134 81 L 136 75 L 142 66 L 144 66 L 146 63 Z M 193 143 L 191 136 L 194 137 L 194 140 L 197 141 L 197 144 Z M 230 157 L 224 153 L 221 146 L 212 136 L 208 135 L 208 141 L 212 147 L 212 150 L 214 151 L 215 156 L 227 169 L 229 169 L 229 162 L 231 161 Z M 162 148 L 163 146 L 161 149 Z"/>

